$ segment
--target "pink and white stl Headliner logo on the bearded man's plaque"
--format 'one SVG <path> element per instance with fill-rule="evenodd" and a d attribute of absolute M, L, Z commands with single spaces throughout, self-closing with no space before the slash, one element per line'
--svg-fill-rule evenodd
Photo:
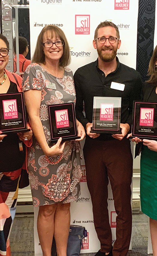
<path fill-rule="evenodd" d="M 101 103 L 100 106 L 100 120 L 102 121 L 113 121 L 113 108 L 114 104 Z"/>

